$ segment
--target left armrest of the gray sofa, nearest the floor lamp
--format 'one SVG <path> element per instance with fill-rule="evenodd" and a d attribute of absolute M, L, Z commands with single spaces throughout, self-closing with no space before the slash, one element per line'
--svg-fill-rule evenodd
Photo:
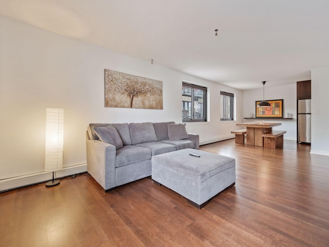
<path fill-rule="evenodd" d="M 111 189 L 115 184 L 116 148 L 100 140 L 87 142 L 87 171 L 104 188 Z"/>

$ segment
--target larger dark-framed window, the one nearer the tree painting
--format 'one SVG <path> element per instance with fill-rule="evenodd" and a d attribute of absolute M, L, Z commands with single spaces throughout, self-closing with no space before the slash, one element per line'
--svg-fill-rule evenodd
<path fill-rule="evenodd" d="M 183 82 L 181 95 L 182 121 L 207 121 L 207 87 Z"/>

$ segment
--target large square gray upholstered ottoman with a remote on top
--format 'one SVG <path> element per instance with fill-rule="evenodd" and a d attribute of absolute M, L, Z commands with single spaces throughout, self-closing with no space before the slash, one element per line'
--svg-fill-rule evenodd
<path fill-rule="evenodd" d="M 235 160 L 189 148 L 159 154 L 152 156 L 152 180 L 200 209 L 217 193 L 235 185 Z"/>

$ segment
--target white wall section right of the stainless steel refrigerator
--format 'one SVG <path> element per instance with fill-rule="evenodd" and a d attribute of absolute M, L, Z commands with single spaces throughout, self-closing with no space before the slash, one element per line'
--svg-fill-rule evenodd
<path fill-rule="evenodd" d="M 311 102 L 311 151 L 310 153 L 329 155 L 329 66 L 313 68 Z"/>

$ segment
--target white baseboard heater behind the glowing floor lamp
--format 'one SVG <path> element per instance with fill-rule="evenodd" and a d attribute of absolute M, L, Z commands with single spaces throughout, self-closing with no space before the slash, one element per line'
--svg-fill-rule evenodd
<path fill-rule="evenodd" d="M 79 164 L 69 167 L 64 167 L 56 172 L 57 178 L 67 177 L 69 175 L 78 174 L 87 171 L 87 164 Z M 37 172 L 17 176 L 14 178 L 3 179 L 0 181 L 0 192 L 20 188 L 32 184 L 43 183 L 52 179 L 52 172 Z"/>

